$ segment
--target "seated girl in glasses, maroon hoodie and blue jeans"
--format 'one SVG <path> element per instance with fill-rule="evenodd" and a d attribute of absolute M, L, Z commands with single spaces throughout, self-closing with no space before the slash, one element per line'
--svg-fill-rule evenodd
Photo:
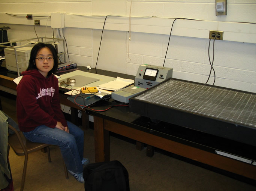
<path fill-rule="evenodd" d="M 84 132 L 66 121 L 60 107 L 57 51 L 52 44 L 37 43 L 31 50 L 29 65 L 22 72 L 17 90 L 19 129 L 32 142 L 60 147 L 66 167 L 79 182 L 84 182 Z"/>

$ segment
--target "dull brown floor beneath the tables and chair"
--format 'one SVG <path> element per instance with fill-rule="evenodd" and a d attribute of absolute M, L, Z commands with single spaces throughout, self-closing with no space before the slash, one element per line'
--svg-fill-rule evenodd
<path fill-rule="evenodd" d="M 16 120 L 15 97 L 0 95 L 2 109 Z M 91 162 L 94 157 L 93 129 L 85 131 L 84 156 Z M 111 136 L 111 160 L 119 160 L 129 172 L 131 191 L 256 191 L 256 187 L 220 173 L 178 160 L 166 154 L 155 152 L 146 156 L 146 149 L 136 150 L 130 141 Z M 23 156 L 9 154 L 14 190 L 21 184 Z M 84 184 L 70 174 L 65 178 L 63 163 L 58 147 L 51 146 L 51 160 L 47 154 L 38 151 L 28 157 L 27 176 L 24 191 L 82 191 Z"/>

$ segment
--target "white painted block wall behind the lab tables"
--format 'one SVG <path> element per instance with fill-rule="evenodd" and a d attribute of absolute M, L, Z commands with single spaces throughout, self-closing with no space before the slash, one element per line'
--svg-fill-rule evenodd
<path fill-rule="evenodd" d="M 34 21 L 5 13 L 65 13 L 63 34 L 70 59 L 95 67 L 105 19 L 95 15 L 116 15 L 106 19 L 97 68 L 135 75 L 141 64 L 163 65 L 174 21 L 170 18 L 206 20 L 175 21 L 165 66 L 174 69 L 174 78 L 205 83 L 210 72 L 209 29 L 222 30 L 223 41 L 215 41 L 215 85 L 256 93 L 256 25 L 249 24 L 256 23 L 256 1 L 228 0 L 226 16 L 215 16 L 214 7 L 215 0 L 0 0 L 0 27 L 10 26 L 9 40 L 35 38 Z M 133 18 L 151 16 L 158 18 Z M 37 35 L 52 37 L 51 19 L 39 19 L 44 26 L 36 26 Z"/>

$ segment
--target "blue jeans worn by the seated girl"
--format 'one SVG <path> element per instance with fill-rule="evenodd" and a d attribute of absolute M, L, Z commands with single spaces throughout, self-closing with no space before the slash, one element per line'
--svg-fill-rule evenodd
<path fill-rule="evenodd" d="M 31 142 L 59 146 L 67 169 L 81 173 L 83 171 L 81 161 L 84 155 L 84 131 L 68 121 L 67 126 L 69 133 L 41 125 L 23 134 Z"/>

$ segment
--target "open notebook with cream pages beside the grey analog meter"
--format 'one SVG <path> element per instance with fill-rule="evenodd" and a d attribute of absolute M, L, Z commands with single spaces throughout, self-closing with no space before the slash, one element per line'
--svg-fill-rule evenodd
<path fill-rule="evenodd" d="M 110 81 L 108 83 L 102 84 L 97 88 L 102 90 L 117 91 L 133 84 L 134 84 L 134 80 L 132 79 L 117 77 L 117 79 Z"/>

